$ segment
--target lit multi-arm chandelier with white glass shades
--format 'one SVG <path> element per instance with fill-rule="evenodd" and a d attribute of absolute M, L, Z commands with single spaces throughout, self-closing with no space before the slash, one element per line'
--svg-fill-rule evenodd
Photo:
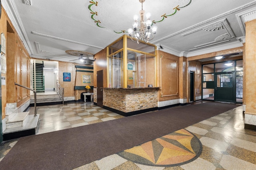
<path fill-rule="evenodd" d="M 151 26 L 152 21 L 150 20 L 150 13 L 146 14 L 147 20 L 144 21 L 144 13 L 143 10 L 143 2 L 145 0 L 139 0 L 141 2 L 141 10 L 140 10 L 140 25 L 138 23 L 138 16 L 134 16 L 134 22 L 132 23 L 133 29 L 129 28 L 127 31 L 132 41 L 137 41 L 139 44 L 142 40 L 146 43 L 152 40 L 155 37 L 157 26 Z M 150 32 L 150 28 L 152 29 L 152 33 Z"/>

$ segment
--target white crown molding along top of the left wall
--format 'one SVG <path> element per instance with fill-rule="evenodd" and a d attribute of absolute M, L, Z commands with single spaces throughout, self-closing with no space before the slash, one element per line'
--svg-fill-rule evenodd
<path fill-rule="evenodd" d="M 6 10 L 6 13 L 12 22 L 12 25 L 18 33 L 18 36 L 24 43 L 26 50 L 30 55 L 32 55 L 34 52 L 28 41 L 28 36 L 20 19 L 20 15 L 18 14 L 18 9 L 16 8 L 16 5 L 13 1 L 14 0 L 4 0 L 2 1 L 2 6 Z"/>

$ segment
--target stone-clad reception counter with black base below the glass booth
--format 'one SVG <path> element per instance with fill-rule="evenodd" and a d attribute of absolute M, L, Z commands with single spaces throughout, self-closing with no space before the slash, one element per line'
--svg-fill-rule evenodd
<path fill-rule="evenodd" d="M 103 107 L 124 116 L 158 109 L 158 89 L 103 88 Z"/>

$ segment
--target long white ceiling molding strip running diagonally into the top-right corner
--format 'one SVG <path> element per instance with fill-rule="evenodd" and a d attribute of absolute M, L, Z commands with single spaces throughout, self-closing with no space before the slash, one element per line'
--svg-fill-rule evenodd
<path fill-rule="evenodd" d="M 185 31 L 188 31 L 189 29 L 193 29 L 193 28 L 195 28 L 195 27 L 198 27 L 198 26 L 203 25 L 203 24 L 205 24 L 205 23 L 208 23 L 208 22 L 210 22 L 210 21 L 217 20 L 218 18 L 222 18 L 222 17 L 224 17 L 224 16 L 227 16 L 227 15 L 229 15 L 229 14 L 232 14 L 232 13 L 234 13 L 234 12 L 237 12 L 237 11 L 239 11 L 239 10 L 242 10 L 242 9 L 244 9 L 244 8 L 247 8 L 247 7 L 249 7 L 249 6 L 252 6 L 252 5 L 254 5 L 254 4 L 256 4 L 256 0 L 254 0 L 253 2 L 250 2 L 250 3 L 248 3 L 248 4 L 245 4 L 245 5 L 243 5 L 243 6 L 240 6 L 240 7 L 238 7 L 238 8 L 235 8 L 235 9 L 233 9 L 233 10 L 230 10 L 230 11 L 228 11 L 228 12 L 225 12 L 225 13 L 223 13 L 223 14 L 220 14 L 220 15 L 218 15 L 218 16 L 215 16 L 215 17 L 213 17 L 213 18 L 210 18 L 209 20 L 205 20 L 205 21 L 202 21 L 202 22 L 200 22 L 200 23 L 198 23 L 198 24 L 192 25 L 191 27 L 187 27 L 186 29 L 182 29 L 182 30 L 180 30 L 180 31 L 178 31 L 178 32 L 176 32 L 176 33 L 170 34 L 170 35 L 168 35 L 168 36 L 166 36 L 166 37 L 163 37 L 163 38 L 161 38 L 161 39 L 158 39 L 158 40 L 156 40 L 156 41 L 154 41 L 154 42 L 152 42 L 152 43 L 158 43 L 159 41 L 168 39 L 168 38 L 170 38 L 170 37 L 173 37 L 174 35 L 178 35 L 178 34 L 180 34 L 180 33 L 183 33 L 183 32 L 185 32 Z"/>

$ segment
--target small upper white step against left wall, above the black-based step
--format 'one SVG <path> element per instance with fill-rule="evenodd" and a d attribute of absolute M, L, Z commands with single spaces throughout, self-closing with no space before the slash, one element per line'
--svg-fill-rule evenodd
<path fill-rule="evenodd" d="M 8 121 L 6 121 L 6 129 L 10 129 L 14 127 L 22 127 L 27 120 L 26 117 L 28 113 L 29 111 L 20 112 L 20 113 L 17 113 L 11 119 L 8 119 Z"/>

